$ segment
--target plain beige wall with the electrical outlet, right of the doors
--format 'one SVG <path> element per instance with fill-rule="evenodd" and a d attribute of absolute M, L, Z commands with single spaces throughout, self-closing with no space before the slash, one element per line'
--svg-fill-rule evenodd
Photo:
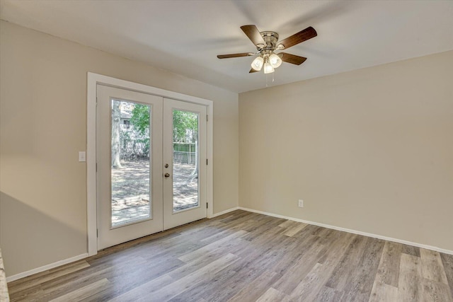
<path fill-rule="evenodd" d="M 453 250 L 452 51 L 241 93 L 239 133 L 241 207 Z"/>

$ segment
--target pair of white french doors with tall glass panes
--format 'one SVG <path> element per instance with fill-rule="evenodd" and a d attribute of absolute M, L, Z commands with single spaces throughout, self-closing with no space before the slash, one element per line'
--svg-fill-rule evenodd
<path fill-rule="evenodd" d="M 98 250 L 206 217 L 205 106 L 98 85 L 96 115 Z"/>

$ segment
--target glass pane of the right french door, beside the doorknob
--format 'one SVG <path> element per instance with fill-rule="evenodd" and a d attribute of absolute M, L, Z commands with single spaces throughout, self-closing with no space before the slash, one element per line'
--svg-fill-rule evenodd
<path fill-rule="evenodd" d="M 173 110 L 173 213 L 198 207 L 198 115 Z"/>

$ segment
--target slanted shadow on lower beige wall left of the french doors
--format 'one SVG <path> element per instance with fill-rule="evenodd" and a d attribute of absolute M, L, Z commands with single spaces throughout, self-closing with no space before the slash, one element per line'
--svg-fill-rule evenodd
<path fill-rule="evenodd" d="M 0 248 L 11 277 L 86 253 L 86 234 L 0 192 Z"/>

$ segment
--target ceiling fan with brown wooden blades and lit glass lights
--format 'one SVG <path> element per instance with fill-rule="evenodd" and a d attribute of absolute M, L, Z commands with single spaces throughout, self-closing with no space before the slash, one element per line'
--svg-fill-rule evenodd
<path fill-rule="evenodd" d="M 311 26 L 304 30 L 287 37 L 284 40 L 278 41 L 278 34 L 273 31 L 260 32 L 256 25 L 243 25 L 241 26 L 243 33 L 253 42 L 258 52 L 241 52 L 239 54 L 219 54 L 217 58 L 227 59 L 235 57 L 248 57 L 259 54 L 251 66 L 249 73 L 260 71 L 263 67 L 265 74 L 270 74 L 275 71 L 275 68 L 280 66 L 282 62 L 287 62 L 295 65 L 300 65 L 305 62 L 305 57 L 299 57 L 295 54 L 288 54 L 286 52 L 275 53 L 276 50 L 286 50 L 289 47 L 297 45 L 301 42 L 316 37 L 318 35 L 316 30 Z"/>

